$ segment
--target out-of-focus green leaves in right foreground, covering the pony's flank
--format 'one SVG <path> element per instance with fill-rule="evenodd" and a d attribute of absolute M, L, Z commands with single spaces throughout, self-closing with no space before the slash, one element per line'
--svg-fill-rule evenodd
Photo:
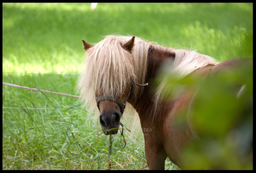
<path fill-rule="evenodd" d="M 189 121 L 198 137 L 184 150 L 183 169 L 252 169 L 252 64 L 206 78 L 178 79 L 169 69 L 158 80 L 165 99 L 194 96 L 189 114 L 177 119 L 178 126 Z"/>

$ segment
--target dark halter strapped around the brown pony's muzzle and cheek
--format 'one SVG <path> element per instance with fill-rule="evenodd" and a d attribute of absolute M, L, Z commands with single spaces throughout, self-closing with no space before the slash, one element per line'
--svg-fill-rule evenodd
<path fill-rule="evenodd" d="M 145 83 L 145 84 L 138 84 L 138 83 L 135 82 L 135 84 L 138 85 L 138 86 L 147 86 L 148 82 Z M 129 81 L 129 93 L 127 94 L 127 98 L 125 98 L 124 103 L 120 99 L 117 99 L 114 96 L 105 96 L 105 95 L 98 96 L 98 97 L 95 96 L 95 99 L 96 99 L 96 102 L 97 102 L 97 107 L 99 109 L 99 101 L 110 100 L 110 101 L 113 101 L 116 104 L 118 104 L 118 106 L 120 107 L 120 111 L 123 114 L 125 105 L 127 104 L 127 99 L 129 98 L 129 95 L 131 94 L 131 92 L 132 92 L 132 80 Z"/>

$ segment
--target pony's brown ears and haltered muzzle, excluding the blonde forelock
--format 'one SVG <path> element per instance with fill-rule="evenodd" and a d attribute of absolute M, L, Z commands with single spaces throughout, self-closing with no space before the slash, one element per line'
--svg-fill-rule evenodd
<path fill-rule="evenodd" d="M 128 42 L 126 42 L 122 47 L 124 51 L 128 51 L 129 53 L 132 52 L 132 47 L 134 46 L 135 36 L 132 36 Z M 92 45 L 83 42 L 83 49 L 88 51 Z M 99 69 L 100 70 L 100 69 Z M 100 90 L 95 91 L 95 98 L 97 102 L 97 107 L 99 109 L 99 123 L 102 126 L 102 130 L 104 134 L 117 134 L 118 133 L 118 126 L 120 124 L 121 116 L 123 115 L 125 104 L 131 93 L 132 88 L 132 80 L 127 80 L 127 85 L 124 87 L 126 88 L 124 93 L 119 96 L 106 96 Z"/>

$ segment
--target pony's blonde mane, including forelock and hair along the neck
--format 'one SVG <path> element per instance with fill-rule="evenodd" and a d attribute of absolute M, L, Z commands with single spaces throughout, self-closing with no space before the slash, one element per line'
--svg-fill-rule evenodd
<path fill-rule="evenodd" d="M 105 39 L 89 48 L 85 54 L 85 69 L 80 74 L 77 90 L 83 106 L 89 103 L 89 112 L 97 109 L 95 92 L 100 91 L 102 95 L 121 96 L 125 93 L 127 83 L 132 80 L 132 95 L 130 99 L 137 99 L 143 93 L 143 87 L 138 87 L 135 82 L 143 84 L 147 74 L 148 49 L 162 50 L 163 52 L 175 53 L 173 70 L 178 77 L 184 77 L 197 69 L 203 68 L 208 64 L 218 64 L 214 58 L 202 55 L 195 51 L 175 50 L 173 48 L 162 47 L 157 43 L 146 42 L 135 37 L 135 45 L 132 53 L 124 50 L 124 45 L 132 36 L 105 36 Z M 165 90 L 159 85 L 154 96 L 155 107 L 165 94 Z M 131 107 L 127 104 L 127 107 Z M 127 109 L 127 108 L 126 108 Z M 126 111 L 124 111 L 126 112 Z M 156 112 L 155 112 L 156 113 Z"/>

